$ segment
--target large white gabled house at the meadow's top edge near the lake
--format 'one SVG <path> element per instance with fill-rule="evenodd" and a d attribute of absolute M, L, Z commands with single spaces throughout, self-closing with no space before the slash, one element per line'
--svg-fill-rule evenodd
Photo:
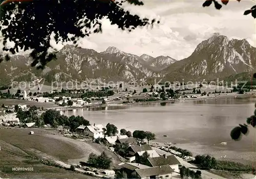
<path fill-rule="evenodd" d="M 103 125 L 89 125 L 89 126 L 83 126 L 80 125 L 76 128 L 76 132 L 80 133 L 81 135 L 90 136 L 94 139 L 97 138 L 104 138 L 104 131 L 103 131 Z"/>

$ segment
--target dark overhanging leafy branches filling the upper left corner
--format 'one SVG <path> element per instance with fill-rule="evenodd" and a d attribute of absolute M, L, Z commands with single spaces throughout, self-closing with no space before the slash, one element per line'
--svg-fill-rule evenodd
<path fill-rule="evenodd" d="M 134 5 L 143 5 L 138 0 L 126 0 Z M 112 25 L 122 30 L 132 31 L 139 26 L 152 25 L 156 20 L 141 19 L 124 11 L 121 3 L 110 0 L 37 0 L 26 3 L 8 3 L 1 6 L 1 25 L 4 46 L 7 39 L 15 42 L 13 48 L 3 48 L 15 54 L 20 49 L 32 49 L 30 56 L 34 59 L 32 66 L 43 68 L 47 62 L 56 59 L 56 49 L 48 53 L 50 35 L 55 34 L 56 42 L 73 41 L 89 36 L 91 33 L 102 32 L 98 19 L 109 18 Z M 15 17 L 11 14 L 15 12 Z M 157 21 L 159 23 L 159 21 Z M 93 27 L 92 27 L 93 24 Z M 6 26 L 6 28 L 3 28 Z M 85 29 L 85 30 L 84 30 Z M 73 34 L 73 37 L 68 37 Z M 8 55 L 1 54 L 1 61 L 10 60 Z"/>

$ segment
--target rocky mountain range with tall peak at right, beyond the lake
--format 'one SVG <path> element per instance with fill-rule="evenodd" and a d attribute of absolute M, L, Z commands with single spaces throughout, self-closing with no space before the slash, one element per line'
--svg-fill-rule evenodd
<path fill-rule="evenodd" d="M 229 40 L 215 33 L 198 44 L 187 58 L 176 60 L 169 56 L 152 57 L 125 53 L 115 47 L 103 52 L 66 45 L 44 70 L 30 66 L 27 56 L 12 56 L 0 64 L 0 83 L 33 81 L 44 78 L 52 81 L 130 81 L 161 78 L 168 81 L 215 80 L 240 73 L 252 73 L 256 68 L 256 48 L 246 39 Z"/>

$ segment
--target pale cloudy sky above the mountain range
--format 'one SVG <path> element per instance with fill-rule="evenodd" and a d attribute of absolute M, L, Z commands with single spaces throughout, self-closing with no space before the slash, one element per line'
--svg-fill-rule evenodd
<path fill-rule="evenodd" d="M 98 52 L 113 46 L 139 56 L 164 55 L 180 60 L 191 55 L 201 41 L 220 33 L 230 40 L 245 38 L 256 47 L 255 20 L 250 14 L 243 15 L 256 5 L 253 1 L 230 0 L 221 10 L 215 9 L 214 4 L 204 8 L 201 0 L 144 0 L 144 6 L 124 4 L 124 9 L 132 14 L 160 19 L 160 24 L 153 29 L 144 27 L 126 32 L 103 19 L 102 33 L 80 40 L 79 46 Z"/>

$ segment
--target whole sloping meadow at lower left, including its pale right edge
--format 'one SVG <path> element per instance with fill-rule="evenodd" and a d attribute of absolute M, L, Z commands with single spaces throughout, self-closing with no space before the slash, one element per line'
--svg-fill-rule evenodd
<path fill-rule="evenodd" d="M 28 134 L 31 130 L 34 131 L 34 135 Z M 86 162 L 91 152 L 100 154 L 106 151 L 113 158 L 114 164 L 120 163 L 117 156 L 103 146 L 62 137 L 55 130 L 1 129 L 0 146 L 0 176 L 5 178 L 91 178 L 65 169 L 43 165 L 31 159 L 31 156 L 39 156 L 36 151 L 67 164 Z M 33 167 L 34 171 L 12 171 L 13 167 Z"/>

